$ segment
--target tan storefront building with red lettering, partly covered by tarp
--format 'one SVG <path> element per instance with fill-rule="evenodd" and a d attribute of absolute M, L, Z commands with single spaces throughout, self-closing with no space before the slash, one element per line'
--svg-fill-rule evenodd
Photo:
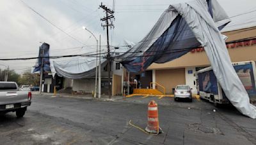
<path fill-rule="evenodd" d="M 256 61 L 256 27 L 223 32 L 226 42 L 241 40 L 227 45 L 232 62 Z M 255 39 L 252 39 L 255 38 Z M 250 39 L 250 40 L 248 40 Z M 163 85 L 166 93 L 172 93 L 177 85 L 186 84 L 196 93 L 196 71 L 211 66 L 204 48 L 196 48 L 186 55 L 164 64 L 152 64 L 152 81 Z"/>

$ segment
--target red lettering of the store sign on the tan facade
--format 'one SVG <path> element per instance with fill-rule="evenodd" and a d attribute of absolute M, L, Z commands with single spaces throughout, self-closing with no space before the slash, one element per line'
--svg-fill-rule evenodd
<path fill-rule="evenodd" d="M 227 48 L 240 48 L 240 47 L 253 46 L 253 45 L 256 45 L 256 39 L 238 42 L 238 43 L 230 43 L 230 44 L 227 44 Z M 195 52 L 204 52 L 204 47 L 191 50 L 191 53 L 195 53 Z"/>

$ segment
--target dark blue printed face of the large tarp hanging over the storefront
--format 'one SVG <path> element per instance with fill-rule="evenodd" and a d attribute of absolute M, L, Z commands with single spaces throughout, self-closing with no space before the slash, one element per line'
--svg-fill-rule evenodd
<path fill-rule="evenodd" d="M 208 12 L 213 18 L 212 1 L 207 0 L 207 3 Z M 121 56 L 121 63 L 128 71 L 145 71 L 153 62 L 160 64 L 172 61 L 201 45 L 184 18 L 182 18 L 181 15 L 173 15 L 170 11 L 172 11 L 172 9 L 164 11 L 163 15 L 159 18 L 148 35 L 134 46 L 131 51 Z M 172 15 L 167 15 L 167 13 L 171 13 Z M 156 36 L 155 31 L 159 31 L 157 30 L 159 29 L 158 25 L 163 23 L 168 24 L 168 22 L 164 22 L 165 20 L 163 20 L 166 17 L 173 17 L 171 18 L 172 22 L 169 23 L 168 28 L 159 38 L 154 38 L 154 36 Z M 228 22 L 223 25 L 227 24 Z M 220 25 L 218 28 L 223 29 L 223 25 Z M 154 39 L 156 39 L 156 41 L 154 41 Z M 150 44 L 149 41 L 153 41 L 153 43 Z"/>

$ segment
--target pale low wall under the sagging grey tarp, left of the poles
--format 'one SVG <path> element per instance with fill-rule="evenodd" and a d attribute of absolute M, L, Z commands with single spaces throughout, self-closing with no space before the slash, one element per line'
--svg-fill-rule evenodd
<path fill-rule="evenodd" d="M 72 90 L 92 93 L 95 91 L 95 79 L 74 79 Z"/>

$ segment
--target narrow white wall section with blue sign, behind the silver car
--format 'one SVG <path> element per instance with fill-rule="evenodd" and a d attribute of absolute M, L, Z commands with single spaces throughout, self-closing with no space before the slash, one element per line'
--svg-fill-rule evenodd
<path fill-rule="evenodd" d="M 191 74 L 188 71 L 192 71 Z M 195 67 L 186 67 L 185 68 L 185 77 L 186 77 L 186 85 L 189 85 L 192 89 L 192 93 L 196 93 L 196 82 L 194 85 L 194 81 L 196 81 L 196 69 Z"/>

